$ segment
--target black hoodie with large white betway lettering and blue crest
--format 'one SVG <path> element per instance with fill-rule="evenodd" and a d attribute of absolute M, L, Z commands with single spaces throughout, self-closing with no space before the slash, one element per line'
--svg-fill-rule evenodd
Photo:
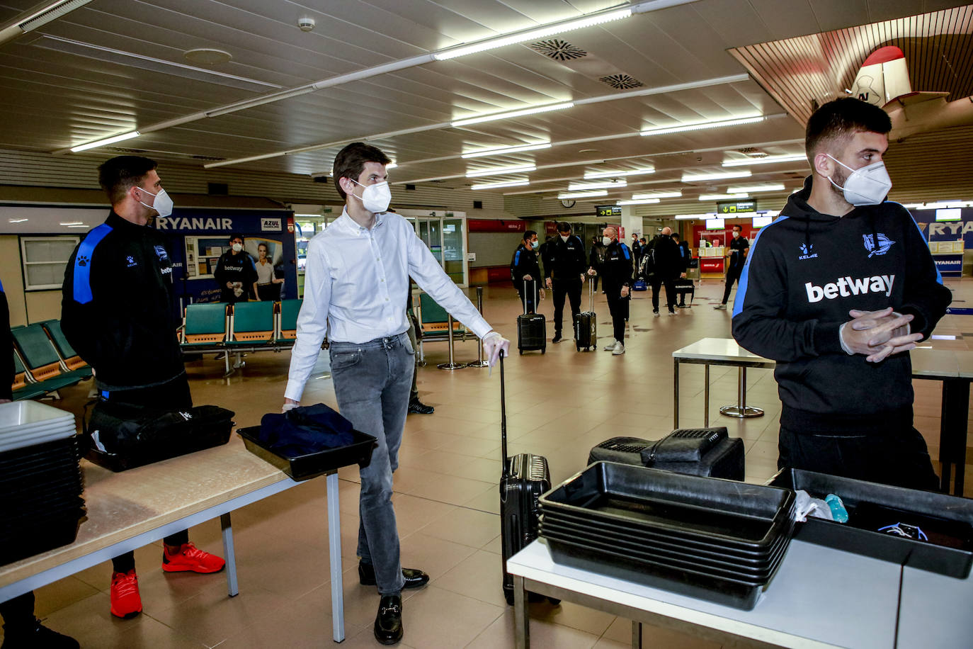
<path fill-rule="evenodd" d="M 808 205 L 811 178 L 750 247 L 733 310 L 733 336 L 774 359 L 780 423 L 805 430 L 880 431 L 913 403 L 908 353 L 869 363 L 848 355 L 838 330 L 848 310 L 912 313 L 927 338 L 952 301 L 919 227 L 886 201 L 845 216 Z"/>

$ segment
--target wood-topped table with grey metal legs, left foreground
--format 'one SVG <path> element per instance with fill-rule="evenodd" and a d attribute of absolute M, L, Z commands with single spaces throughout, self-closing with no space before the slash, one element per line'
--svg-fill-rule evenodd
<path fill-rule="evenodd" d="M 92 565 L 220 517 L 227 561 L 227 591 L 239 593 L 230 515 L 297 483 L 246 451 L 234 435 L 215 449 L 112 473 L 82 460 L 88 518 L 74 543 L 0 566 L 0 601 L 6 601 Z M 332 637 L 344 639 L 342 535 L 338 473 L 327 484 L 328 551 L 331 567 Z"/>

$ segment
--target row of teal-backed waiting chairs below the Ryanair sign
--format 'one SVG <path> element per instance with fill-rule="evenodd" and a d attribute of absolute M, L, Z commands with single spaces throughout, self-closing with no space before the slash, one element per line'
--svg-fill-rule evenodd
<path fill-rule="evenodd" d="M 183 353 L 223 353 L 226 374 L 232 374 L 230 355 L 255 351 L 281 351 L 294 346 L 302 300 L 238 302 L 186 306 L 179 330 Z"/>

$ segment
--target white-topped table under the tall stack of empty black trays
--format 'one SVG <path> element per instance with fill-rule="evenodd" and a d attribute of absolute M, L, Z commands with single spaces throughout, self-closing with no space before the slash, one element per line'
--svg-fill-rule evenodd
<path fill-rule="evenodd" d="M 973 616 L 953 617 L 936 610 L 940 598 L 959 594 L 962 598 L 953 608 L 968 607 L 973 595 L 970 579 L 916 576 L 919 583 L 904 589 L 903 595 L 924 597 L 922 613 L 928 617 L 912 615 L 904 629 L 899 621 L 901 566 L 797 540 L 751 611 L 559 565 L 543 541 L 532 542 L 509 559 L 507 569 L 514 575 L 515 638 L 520 649 L 530 646 L 525 590 L 631 619 L 636 649 L 642 646 L 642 623 L 732 646 L 745 640 L 746 646 L 888 649 L 907 632 L 913 636 L 920 629 L 937 628 L 940 642 L 898 646 L 966 647 L 973 635 Z M 911 570 L 910 576 L 918 572 Z"/>

